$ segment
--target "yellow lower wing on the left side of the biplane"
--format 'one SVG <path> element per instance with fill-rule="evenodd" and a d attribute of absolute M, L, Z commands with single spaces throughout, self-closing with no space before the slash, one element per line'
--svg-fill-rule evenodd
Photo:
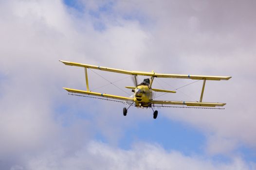
<path fill-rule="evenodd" d="M 117 100 L 122 100 L 122 101 L 131 101 L 131 102 L 134 101 L 133 98 L 123 97 L 123 96 L 115 96 L 115 95 L 111 95 L 111 94 L 97 93 L 97 92 L 91 92 L 91 91 L 85 91 L 85 90 L 77 90 L 77 89 L 66 88 L 66 87 L 63 87 L 63 88 L 70 93 L 87 94 L 87 95 L 100 96 L 100 97 L 117 99 Z"/>

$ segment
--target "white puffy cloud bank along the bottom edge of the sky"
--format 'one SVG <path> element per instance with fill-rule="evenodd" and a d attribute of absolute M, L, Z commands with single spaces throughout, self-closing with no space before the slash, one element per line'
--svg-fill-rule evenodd
<path fill-rule="evenodd" d="M 97 163 L 95 163 L 97 162 Z M 110 147 L 91 141 L 81 150 L 66 156 L 62 151 L 46 152 L 30 159 L 24 167 L 27 170 L 68 170 L 68 169 L 122 169 L 122 170 L 250 170 L 255 164 L 247 165 L 239 157 L 231 162 L 219 163 L 211 159 L 182 153 L 167 152 L 157 145 L 139 143 L 131 150 Z"/>

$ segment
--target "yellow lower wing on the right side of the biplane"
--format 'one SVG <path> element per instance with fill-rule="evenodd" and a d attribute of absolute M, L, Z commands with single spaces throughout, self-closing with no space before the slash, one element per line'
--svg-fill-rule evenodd
<path fill-rule="evenodd" d="M 226 103 L 217 102 L 179 102 L 179 101 L 151 101 L 152 104 L 177 104 L 177 105 L 187 105 L 187 106 L 204 106 L 204 107 L 216 107 L 224 106 Z"/>

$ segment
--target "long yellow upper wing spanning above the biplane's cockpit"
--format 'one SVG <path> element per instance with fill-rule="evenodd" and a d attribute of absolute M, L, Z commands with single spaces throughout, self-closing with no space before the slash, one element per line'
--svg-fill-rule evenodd
<path fill-rule="evenodd" d="M 92 69 L 99 69 L 103 71 L 110 71 L 122 74 L 130 74 L 130 75 L 142 75 L 142 76 L 153 76 L 153 77 L 160 77 L 160 78 L 182 78 L 182 79 L 195 79 L 195 80 L 229 80 L 231 76 L 203 76 L 203 75 L 190 75 L 190 74 L 159 74 L 155 72 L 144 72 L 144 71 L 128 71 L 123 69 L 116 69 L 116 68 L 106 68 L 101 66 L 93 66 L 88 64 L 81 64 L 81 63 L 73 63 L 69 61 L 62 61 L 59 60 L 65 65 L 69 66 L 77 66 L 77 67 L 84 67 L 84 68 L 92 68 Z"/>

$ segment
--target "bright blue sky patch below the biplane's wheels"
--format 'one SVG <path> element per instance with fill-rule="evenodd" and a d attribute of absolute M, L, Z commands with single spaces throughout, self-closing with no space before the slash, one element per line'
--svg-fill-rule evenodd
<path fill-rule="evenodd" d="M 205 137 L 199 131 L 160 114 L 157 119 L 140 122 L 136 128 L 124 132 L 120 147 L 129 149 L 132 143 L 142 141 L 158 143 L 166 150 L 179 150 L 184 154 L 202 153 Z"/>

